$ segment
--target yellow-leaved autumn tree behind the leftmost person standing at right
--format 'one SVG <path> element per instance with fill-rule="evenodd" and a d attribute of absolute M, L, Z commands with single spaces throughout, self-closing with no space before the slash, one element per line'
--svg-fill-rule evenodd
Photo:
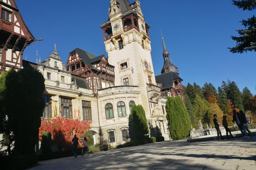
<path fill-rule="evenodd" d="M 209 124 L 212 125 L 212 128 L 215 128 L 214 123 L 213 123 L 213 115 L 217 115 L 217 120 L 220 124 L 222 124 L 222 117 L 223 117 L 223 112 L 221 111 L 220 107 L 216 103 L 211 103 L 211 107 L 208 111 L 208 118 L 210 120 Z"/>

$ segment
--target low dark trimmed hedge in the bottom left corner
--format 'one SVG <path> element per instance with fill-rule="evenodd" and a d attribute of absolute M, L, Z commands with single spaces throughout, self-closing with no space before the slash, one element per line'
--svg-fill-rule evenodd
<path fill-rule="evenodd" d="M 0 169 L 25 169 L 37 164 L 37 155 L 22 155 L 22 156 L 1 156 Z"/>

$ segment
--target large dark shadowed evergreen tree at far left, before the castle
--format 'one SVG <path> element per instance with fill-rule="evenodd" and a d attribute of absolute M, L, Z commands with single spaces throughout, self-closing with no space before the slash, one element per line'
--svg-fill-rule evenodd
<path fill-rule="evenodd" d="M 38 142 L 41 117 L 45 107 L 43 92 L 44 77 L 31 69 L 10 69 L 5 77 L 6 88 L 1 91 L 2 101 L 0 124 L 7 136 L 7 141 L 14 137 L 14 154 L 26 155 L 35 153 Z M 4 106 L 4 107 L 2 107 Z M 15 106 L 15 107 L 14 107 Z M 8 146 L 9 147 L 9 146 Z M 8 154 L 11 153 L 8 150 Z"/>

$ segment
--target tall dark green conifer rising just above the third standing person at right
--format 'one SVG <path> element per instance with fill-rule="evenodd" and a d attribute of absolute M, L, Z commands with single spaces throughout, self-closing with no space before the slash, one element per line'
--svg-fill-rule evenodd
<path fill-rule="evenodd" d="M 228 83 L 228 99 L 230 99 L 233 105 L 244 111 L 243 102 L 242 102 L 242 93 L 240 92 L 239 88 L 237 87 L 236 83 L 232 81 Z"/>

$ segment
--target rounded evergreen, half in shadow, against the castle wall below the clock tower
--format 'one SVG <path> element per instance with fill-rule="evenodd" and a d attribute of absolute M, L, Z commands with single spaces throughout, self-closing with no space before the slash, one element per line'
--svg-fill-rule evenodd
<path fill-rule="evenodd" d="M 141 105 L 132 105 L 131 125 L 136 140 L 142 141 L 144 134 L 149 134 L 146 114 Z"/>

